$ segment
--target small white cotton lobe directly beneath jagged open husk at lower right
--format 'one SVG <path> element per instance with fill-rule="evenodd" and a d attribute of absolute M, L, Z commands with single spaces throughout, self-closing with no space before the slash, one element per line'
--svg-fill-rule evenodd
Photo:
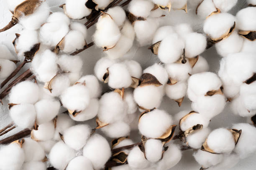
<path fill-rule="evenodd" d="M 190 147 L 199 149 L 202 144 L 205 142 L 205 139 L 210 133 L 209 128 L 202 128 L 200 130 L 196 130 L 195 132 L 189 134 L 187 136 L 187 143 Z"/>

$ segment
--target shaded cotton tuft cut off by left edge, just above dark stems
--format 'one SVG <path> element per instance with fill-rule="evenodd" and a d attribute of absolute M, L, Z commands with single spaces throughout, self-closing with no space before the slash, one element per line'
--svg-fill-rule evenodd
<path fill-rule="evenodd" d="M 0 67 L 0 79 L 8 77 L 16 69 L 16 65 L 14 62 L 1 58 Z"/>

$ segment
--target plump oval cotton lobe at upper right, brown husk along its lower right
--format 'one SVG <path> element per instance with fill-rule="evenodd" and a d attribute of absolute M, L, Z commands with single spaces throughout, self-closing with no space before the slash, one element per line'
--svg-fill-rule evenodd
<path fill-rule="evenodd" d="M 236 18 L 229 13 L 219 13 L 207 18 L 204 23 L 204 32 L 211 38 L 220 38 L 234 25 Z"/>

